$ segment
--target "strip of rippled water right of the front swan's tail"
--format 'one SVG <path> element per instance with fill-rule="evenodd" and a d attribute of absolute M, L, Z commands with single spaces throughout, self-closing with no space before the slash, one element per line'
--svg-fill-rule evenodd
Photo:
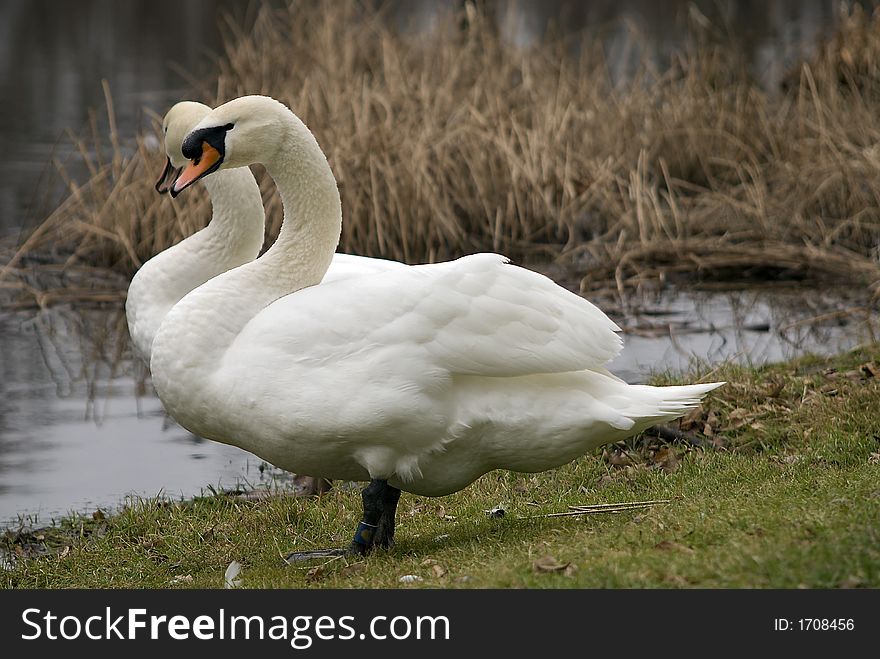
<path fill-rule="evenodd" d="M 842 290 L 667 292 L 622 318 L 624 350 L 610 368 L 628 382 L 726 362 L 766 364 L 832 355 L 876 340 L 876 312 Z"/>

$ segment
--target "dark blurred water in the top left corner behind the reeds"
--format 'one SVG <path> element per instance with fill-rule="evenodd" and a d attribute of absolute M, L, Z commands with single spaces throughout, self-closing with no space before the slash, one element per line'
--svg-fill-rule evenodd
<path fill-rule="evenodd" d="M 44 203 L 46 177 L 52 158 L 73 155 L 67 129 L 85 135 L 89 111 L 98 110 L 106 134 L 102 80 L 126 142 L 149 126 L 150 112 L 161 115 L 187 97 L 173 67 L 211 70 L 220 47 L 216 14 L 225 4 L 0 2 L 0 235 L 36 221 L 57 201 L 56 193 Z"/>

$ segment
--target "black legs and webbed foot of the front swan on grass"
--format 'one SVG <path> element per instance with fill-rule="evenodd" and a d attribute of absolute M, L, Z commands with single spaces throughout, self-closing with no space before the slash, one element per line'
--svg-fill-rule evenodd
<path fill-rule="evenodd" d="M 287 562 L 299 563 L 345 554 L 363 556 L 376 546 L 390 547 L 394 542 L 394 516 L 400 490 L 389 485 L 388 481 L 373 479 L 361 492 L 361 499 L 364 502 L 364 516 L 347 549 L 297 551 L 287 555 Z"/>

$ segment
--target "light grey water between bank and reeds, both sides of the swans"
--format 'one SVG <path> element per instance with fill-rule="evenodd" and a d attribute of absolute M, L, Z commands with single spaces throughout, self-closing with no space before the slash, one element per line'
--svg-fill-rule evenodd
<path fill-rule="evenodd" d="M 664 292 L 602 308 L 623 327 L 611 370 L 629 382 L 725 361 L 835 353 L 873 338 L 843 291 Z M 636 303 L 637 302 L 637 303 Z M 845 310 L 849 308 L 850 310 Z M 816 320 L 816 319 L 819 320 Z M 128 494 L 189 497 L 206 486 L 283 478 L 170 419 L 131 358 L 119 309 L 0 316 L 0 526 L 112 509 Z"/>

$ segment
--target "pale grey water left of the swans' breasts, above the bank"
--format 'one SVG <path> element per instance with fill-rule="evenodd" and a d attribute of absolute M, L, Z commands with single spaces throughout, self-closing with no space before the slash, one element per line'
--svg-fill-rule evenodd
<path fill-rule="evenodd" d="M 260 479 L 260 460 L 166 419 L 121 311 L 2 316 L 0 336 L 0 526 Z"/>

